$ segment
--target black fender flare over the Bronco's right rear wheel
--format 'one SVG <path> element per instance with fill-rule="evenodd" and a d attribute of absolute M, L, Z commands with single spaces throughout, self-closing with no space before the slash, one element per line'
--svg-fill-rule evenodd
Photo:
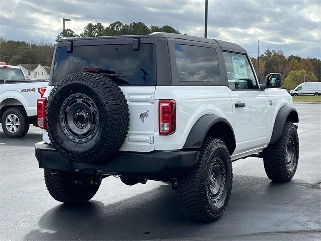
<path fill-rule="evenodd" d="M 235 135 L 234 135 L 232 125 L 227 121 L 227 119 L 219 117 L 214 114 L 203 115 L 201 118 L 197 120 L 197 122 L 192 127 L 183 148 L 184 149 L 200 148 L 210 128 L 218 122 L 224 122 L 230 127 L 234 137 L 233 142 L 234 142 L 234 149 L 235 149 L 236 143 L 235 143 Z M 233 151 L 234 150 L 232 150 L 232 152 Z"/>

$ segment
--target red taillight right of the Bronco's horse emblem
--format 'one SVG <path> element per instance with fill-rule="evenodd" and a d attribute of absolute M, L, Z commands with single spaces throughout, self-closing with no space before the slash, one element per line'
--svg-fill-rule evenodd
<path fill-rule="evenodd" d="M 159 135 L 175 132 L 175 101 L 159 100 Z"/>

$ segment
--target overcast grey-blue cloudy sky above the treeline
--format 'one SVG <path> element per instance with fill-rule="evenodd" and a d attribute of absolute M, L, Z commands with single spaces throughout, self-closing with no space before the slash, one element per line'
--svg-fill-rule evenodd
<path fill-rule="evenodd" d="M 0 37 L 55 43 L 66 28 L 81 33 L 89 23 L 108 26 L 144 22 L 171 25 L 181 33 L 204 36 L 204 3 L 200 1 L 0 0 Z M 321 1 L 209 0 L 208 37 L 235 42 L 251 56 L 266 49 L 286 56 L 321 58 Z"/>

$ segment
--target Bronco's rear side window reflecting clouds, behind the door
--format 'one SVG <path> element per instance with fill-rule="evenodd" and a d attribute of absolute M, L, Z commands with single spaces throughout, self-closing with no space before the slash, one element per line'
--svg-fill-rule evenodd
<path fill-rule="evenodd" d="M 175 44 L 177 75 L 181 82 L 219 82 L 214 48 Z"/>

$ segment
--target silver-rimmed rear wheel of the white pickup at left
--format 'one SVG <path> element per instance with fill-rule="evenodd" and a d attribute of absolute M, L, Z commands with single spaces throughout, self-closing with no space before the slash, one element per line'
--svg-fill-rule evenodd
<path fill-rule="evenodd" d="M 25 110 L 19 107 L 7 109 L 2 115 L 1 126 L 8 137 L 25 136 L 29 130 L 29 121 Z"/>

